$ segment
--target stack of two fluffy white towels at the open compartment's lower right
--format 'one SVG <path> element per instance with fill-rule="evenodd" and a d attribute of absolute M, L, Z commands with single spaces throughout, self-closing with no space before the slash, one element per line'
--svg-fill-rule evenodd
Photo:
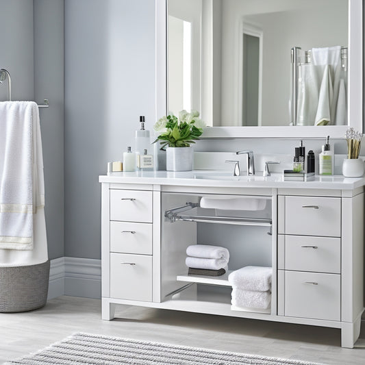
<path fill-rule="evenodd" d="M 231 304 L 236 307 L 268 309 L 271 304 L 273 268 L 245 266 L 229 274 L 232 286 Z"/>

